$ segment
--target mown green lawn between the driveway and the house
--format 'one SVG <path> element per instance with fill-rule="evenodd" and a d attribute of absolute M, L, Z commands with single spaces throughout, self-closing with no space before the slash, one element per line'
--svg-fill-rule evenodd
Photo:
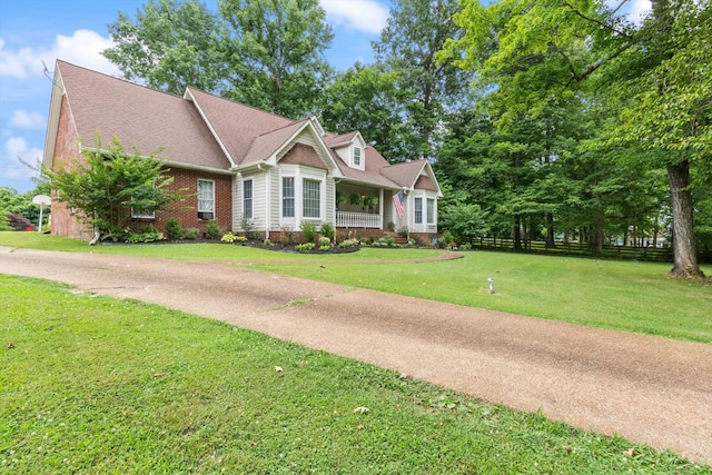
<path fill-rule="evenodd" d="M 86 241 L 36 232 L 0 232 L 0 246 L 249 263 L 250 268 L 296 277 L 712 343 L 712 284 L 669 278 L 669 264 L 488 251 L 465 253 L 463 259 L 449 261 L 394 263 L 438 254 L 429 249 L 363 248 L 345 255 L 301 255 L 217 244 L 90 248 Z M 712 276 L 712 266 L 703 270 Z M 490 277 L 495 281 L 494 295 L 487 291 Z"/>

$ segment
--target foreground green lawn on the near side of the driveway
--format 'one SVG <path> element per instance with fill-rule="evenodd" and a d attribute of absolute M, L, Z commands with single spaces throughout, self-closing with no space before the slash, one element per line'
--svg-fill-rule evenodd
<path fill-rule="evenodd" d="M 711 473 L 135 300 L 0 275 L 0 473 Z"/>

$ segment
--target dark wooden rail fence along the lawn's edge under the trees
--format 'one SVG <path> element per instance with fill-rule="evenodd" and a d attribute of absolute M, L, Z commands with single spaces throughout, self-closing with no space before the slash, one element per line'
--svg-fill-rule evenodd
<path fill-rule="evenodd" d="M 473 248 L 514 250 L 514 239 L 479 238 L 472 243 Z M 630 246 L 603 246 L 603 254 L 595 254 L 587 244 L 582 243 L 555 243 L 555 247 L 546 247 L 545 241 L 522 239 L 521 253 L 561 254 L 566 256 L 609 257 L 615 259 L 646 260 L 653 263 L 672 263 L 672 248 L 630 247 Z M 712 261 L 710 253 L 699 253 L 701 263 Z"/>

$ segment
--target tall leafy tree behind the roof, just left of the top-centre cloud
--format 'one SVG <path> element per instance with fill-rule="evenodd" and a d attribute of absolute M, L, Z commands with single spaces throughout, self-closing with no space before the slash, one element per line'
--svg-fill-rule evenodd
<path fill-rule="evenodd" d="M 228 96 L 286 117 L 313 111 L 332 73 L 324 52 L 334 38 L 318 0 L 220 0 L 219 9 L 233 31 Z"/>

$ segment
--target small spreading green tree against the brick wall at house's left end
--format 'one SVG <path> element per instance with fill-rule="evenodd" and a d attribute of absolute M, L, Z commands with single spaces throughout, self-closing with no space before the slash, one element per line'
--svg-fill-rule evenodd
<path fill-rule="evenodd" d="M 174 190 L 172 177 L 165 175 L 166 161 L 156 151 L 148 157 L 127 154 L 113 137 L 107 150 L 97 135 L 96 148 L 85 150 L 83 158 L 60 165 L 58 170 L 44 170 L 57 199 L 73 208 L 73 214 L 97 229 L 101 238 L 122 238 L 128 231 L 131 214 L 155 212 L 170 202 L 185 199 L 186 189 Z"/>

